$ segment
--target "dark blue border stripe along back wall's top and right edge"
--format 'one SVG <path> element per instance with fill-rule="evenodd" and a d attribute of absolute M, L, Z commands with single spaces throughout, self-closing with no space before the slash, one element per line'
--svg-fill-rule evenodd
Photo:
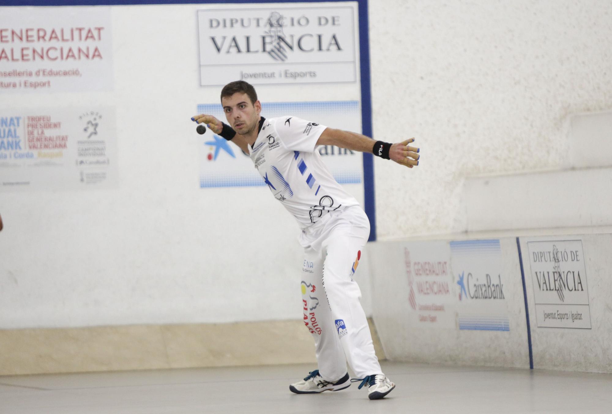
<path fill-rule="evenodd" d="M 202 3 L 193 1 L 162 0 L 0 0 L 0 5 L 12 6 L 67 6 L 67 5 L 147 5 L 147 4 L 250 4 L 250 3 L 321 3 L 330 0 L 207 0 Z M 361 71 L 361 120 L 362 132 L 372 136 L 372 103 L 370 92 L 370 37 L 368 33 L 368 0 L 332 0 L 335 2 L 357 2 L 359 15 L 359 52 Z M 374 192 L 374 160 L 372 154 L 364 153 L 364 209 L 370 219 L 370 238 L 376 240 L 376 203 Z"/>

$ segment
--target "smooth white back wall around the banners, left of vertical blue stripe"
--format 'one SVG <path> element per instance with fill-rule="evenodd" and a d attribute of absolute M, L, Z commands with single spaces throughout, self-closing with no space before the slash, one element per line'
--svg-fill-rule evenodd
<path fill-rule="evenodd" d="M 190 117 L 220 95 L 198 87 L 201 7 L 113 7 L 113 92 L 0 99 L 3 109 L 116 107 L 120 180 L 0 194 L 0 328 L 302 317 L 293 217 L 263 187 L 199 187 Z M 359 100 L 354 89 L 257 87 L 268 102 L 316 101 L 323 90 L 326 100 Z M 369 315 L 367 258 L 362 269 Z"/>

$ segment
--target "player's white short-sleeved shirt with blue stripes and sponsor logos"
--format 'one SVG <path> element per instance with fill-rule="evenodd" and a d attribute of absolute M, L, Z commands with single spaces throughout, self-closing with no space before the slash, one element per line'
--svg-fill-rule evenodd
<path fill-rule="evenodd" d="M 359 205 L 334 180 L 316 151 L 326 126 L 292 116 L 261 119 L 261 129 L 248 152 L 272 195 L 301 228 L 310 227 L 330 211 Z"/>

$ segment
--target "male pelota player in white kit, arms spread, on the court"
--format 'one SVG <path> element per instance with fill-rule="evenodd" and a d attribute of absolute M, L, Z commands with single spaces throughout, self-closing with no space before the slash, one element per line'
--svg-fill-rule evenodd
<path fill-rule="evenodd" d="M 357 200 L 342 189 L 327 170 L 316 147 L 336 145 L 373 153 L 412 168 L 419 165 L 414 139 L 400 143 L 327 128 L 287 115 L 264 118 L 252 85 L 231 82 L 221 91 L 230 126 L 212 115 L 196 115 L 215 133 L 236 143 L 250 157 L 275 198 L 302 228 L 304 247 L 302 307 L 304 324 L 315 339 L 318 368 L 293 383 L 298 394 L 348 388 L 361 381 L 370 399 L 380 399 L 395 388 L 381 371 L 370 329 L 359 302 L 361 291 L 353 280 L 370 222 Z M 357 379 L 349 382 L 346 362 Z"/>

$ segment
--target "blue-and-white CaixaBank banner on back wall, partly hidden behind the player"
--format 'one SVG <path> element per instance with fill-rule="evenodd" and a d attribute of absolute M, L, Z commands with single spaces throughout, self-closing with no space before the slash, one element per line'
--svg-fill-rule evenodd
<path fill-rule="evenodd" d="M 265 118 L 291 115 L 349 131 L 361 128 L 361 110 L 357 101 L 262 103 L 261 107 L 261 115 Z M 225 121 L 223 108 L 218 103 L 198 105 L 198 114 L 211 114 Z M 338 183 L 362 182 L 362 153 L 331 145 L 319 146 L 316 151 L 319 151 Z M 200 136 L 201 188 L 264 185 L 266 184 L 253 168 L 250 157 L 242 153 L 236 145 L 213 134 L 209 129 Z"/>

